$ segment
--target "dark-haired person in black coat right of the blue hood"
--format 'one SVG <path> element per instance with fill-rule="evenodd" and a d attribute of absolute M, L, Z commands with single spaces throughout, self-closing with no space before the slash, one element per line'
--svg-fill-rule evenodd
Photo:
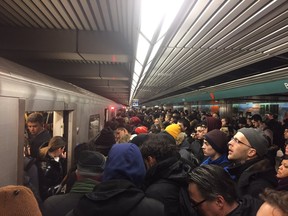
<path fill-rule="evenodd" d="M 181 188 L 187 188 L 187 175 L 195 166 L 181 158 L 167 134 L 149 134 L 141 146 L 146 163 L 145 193 L 165 205 L 166 215 L 180 215 Z"/>

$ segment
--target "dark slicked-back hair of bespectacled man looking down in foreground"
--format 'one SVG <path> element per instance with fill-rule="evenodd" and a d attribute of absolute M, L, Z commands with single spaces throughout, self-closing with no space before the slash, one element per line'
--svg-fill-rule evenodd
<path fill-rule="evenodd" d="M 235 182 L 222 167 L 217 165 L 196 167 L 189 173 L 188 182 L 196 184 L 202 197 L 207 200 L 213 200 L 221 195 L 228 204 L 232 204 L 238 198 Z"/>

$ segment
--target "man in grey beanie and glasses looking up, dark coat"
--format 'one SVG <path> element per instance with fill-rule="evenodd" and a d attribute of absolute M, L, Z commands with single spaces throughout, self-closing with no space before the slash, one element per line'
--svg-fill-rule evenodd
<path fill-rule="evenodd" d="M 267 158 L 268 140 L 254 128 L 241 128 L 228 143 L 228 159 L 234 164 L 228 168 L 236 177 L 240 196 L 257 197 L 266 187 L 277 186 L 276 171 Z"/>

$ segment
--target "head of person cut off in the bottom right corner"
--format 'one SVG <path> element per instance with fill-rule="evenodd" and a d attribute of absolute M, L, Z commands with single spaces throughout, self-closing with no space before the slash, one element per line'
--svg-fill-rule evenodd
<path fill-rule="evenodd" d="M 256 216 L 285 216 L 288 215 L 288 191 L 276 191 L 266 188 L 260 198 L 264 203 Z"/>

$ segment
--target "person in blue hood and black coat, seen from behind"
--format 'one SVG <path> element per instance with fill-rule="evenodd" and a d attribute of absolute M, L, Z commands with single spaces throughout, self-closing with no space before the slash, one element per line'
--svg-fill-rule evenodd
<path fill-rule="evenodd" d="M 135 144 L 113 145 L 102 182 L 66 216 L 164 216 L 163 204 L 147 198 L 140 189 L 145 173 L 140 150 Z"/>

